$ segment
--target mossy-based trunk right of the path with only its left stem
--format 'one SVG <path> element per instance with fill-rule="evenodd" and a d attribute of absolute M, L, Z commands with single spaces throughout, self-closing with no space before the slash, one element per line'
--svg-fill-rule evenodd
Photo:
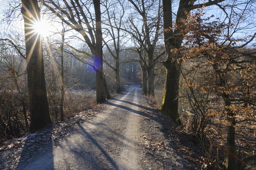
<path fill-rule="evenodd" d="M 171 0 L 163 0 L 163 30 L 172 28 L 172 2 Z M 173 120 L 181 125 L 178 113 L 178 93 L 180 71 L 176 59 L 172 59 L 171 49 L 173 48 L 173 32 L 172 30 L 164 31 L 164 45 L 166 50 L 166 83 L 164 89 L 163 103 L 161 111 L 169 115 Z"/>

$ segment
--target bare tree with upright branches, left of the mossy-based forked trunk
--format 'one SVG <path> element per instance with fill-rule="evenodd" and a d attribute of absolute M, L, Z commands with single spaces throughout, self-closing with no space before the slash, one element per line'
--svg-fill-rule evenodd
<path fill-rule="evenodd" d="M 148 95 L 154 96 L 154 67 L 159 57 L 164 54 L 162 53 L 157 55 L 159 53 L 156 51 L 156 46 L 159 41 L 161 35 L 160 31 L 162 28 L 161 1 L 129 1 L 137 12 L 135 15 L 133 14 L 128 18 L 130 29 L 128 33 L 130 33 L 131 37 L 134 38 L 137 51 L 140 54 L 140 65 L 144 75 L 143 91 L 145 91 Z M 138 17 L 136 15 L 139 15 L 141 18 L 137 20 Z M 138 24 L 140 22 L 142 23 L 141 25 Z M 143 57 L 144 54 L 146 54 L 146 58 Z M 145 78 L 146 75 L 148 79 Z M 147 89 L 145 88 L 144 83 L 147 83 Z"/>

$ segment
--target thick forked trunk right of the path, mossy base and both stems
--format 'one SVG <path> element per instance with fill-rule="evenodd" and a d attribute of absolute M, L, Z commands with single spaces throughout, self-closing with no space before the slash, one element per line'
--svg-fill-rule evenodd
<path fill-rule="evenodd" d="M 186 13 L 191 10 L 191 6 L 195 0 L 180 0 L 179 8 L 177 11 L 176 21 L 177 25 L 181 24 L 180 20 L 187 18 Z M 166 84 L 165 93 L 163 96 L 163 104 L 161 111 L 171 116 L 176 120 L 178 125 L 181 125 L 178 113 L 178 96 L 179 96 L 179 80 L 180 80 L 180 65 L 177 61 L 179 56 L 172 54 L 171 50 L 180 48 L 183 35 L 180 34 L 179 29 L 170 30 L 172 25 L 172 2 L 171 0 L 163 0 L 163 37 L 166 50 Z"/>

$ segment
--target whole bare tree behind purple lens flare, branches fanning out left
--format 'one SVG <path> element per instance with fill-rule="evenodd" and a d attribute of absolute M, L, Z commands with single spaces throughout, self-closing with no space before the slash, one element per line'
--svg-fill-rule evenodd
<path fill-rule="evenodd" d="M 100 103 L 105 101 L 105 99 L 109 99 L 111 96 L 109 94 L 107 82 L 103 73 L 100 1 L 93 0 L 93 3 L 90 3 L 88 1 L 84 2 L 81 0 L 71 0 L 68 3 L 66 0 L 64 0 L 63 3 L 60 3 L 58 0 L 42 0 L 41 2 L 60 20 L 67 24 L 67 26 L 79 32 L 84 39 L 83 42 L 87 43 L 93 56 L 99 57 L 101 63 L 97 63 L 99 64 L 99 66 L 97 66 L 99 69 L 96 70 L 96 100 L 98 103 Z M 90 7 L 87 7 L 91 5 L 94 6 L 95 16 L 93 16 L 92 12 L 90 11 Z M 65 17 L 62 17 L 59 13 L 64 14 Z M 86 52 L 84 54 L 88 55 Z"/>

